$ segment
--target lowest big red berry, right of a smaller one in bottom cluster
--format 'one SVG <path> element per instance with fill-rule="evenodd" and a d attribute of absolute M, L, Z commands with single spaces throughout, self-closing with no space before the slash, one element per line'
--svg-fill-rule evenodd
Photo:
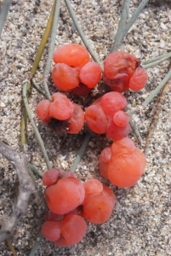
<path fill-rule="evenodd" d="M 83 239 L 87 224 L 81 216 L 70 214 L 62 220 L 60 229 L 66 244 L 72 246 Z"/>

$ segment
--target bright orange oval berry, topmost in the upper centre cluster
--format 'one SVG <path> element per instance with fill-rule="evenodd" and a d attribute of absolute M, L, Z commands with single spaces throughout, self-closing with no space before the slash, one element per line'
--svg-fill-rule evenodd
<path fill-rule="evenodd" d="M 84 66 L 90 57 L 88 50 L 80 44 L 66 44 L 54 52 L 54 63 L 66 63 L 68 66 Z"/>

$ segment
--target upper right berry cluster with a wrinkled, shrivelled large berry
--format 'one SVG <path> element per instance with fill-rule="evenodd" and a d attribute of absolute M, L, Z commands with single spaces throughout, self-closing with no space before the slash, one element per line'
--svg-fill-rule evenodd
<path fill-rule="evenodd" d="M 124 51 L 108 55 L 104 61 L 103 80 L 112 90 L 141 90 L 145 87 L 147 73 L 140 60 Z"/>

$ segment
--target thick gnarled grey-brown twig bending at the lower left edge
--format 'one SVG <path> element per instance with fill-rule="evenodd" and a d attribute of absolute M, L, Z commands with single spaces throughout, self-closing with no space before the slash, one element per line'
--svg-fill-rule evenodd
<path fill-rule="evenodd" d="M 11 162 L 20 179 L 19 195 L 12 214 L 0 230 L 0 242 L 14 234 L 20 218 L 26 213 L 28 200 L 35 187 L 26 169 L 26 153 L 18 153 L 5 143 L 0 142 L 0 154 Z"/>

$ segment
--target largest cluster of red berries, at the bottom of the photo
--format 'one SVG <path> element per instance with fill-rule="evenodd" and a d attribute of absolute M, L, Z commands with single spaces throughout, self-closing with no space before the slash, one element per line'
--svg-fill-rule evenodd
<path fill-rule="evenodd" d="M 116 196 L 97 179 L 82 183 L 71 172 L 49 169 L 43 174 L 45 199 L 50 211 L 42 226 L 43 236 L 60 247 L 83 239 L 88 220 L 102 224 L 111 217 Z"/>

